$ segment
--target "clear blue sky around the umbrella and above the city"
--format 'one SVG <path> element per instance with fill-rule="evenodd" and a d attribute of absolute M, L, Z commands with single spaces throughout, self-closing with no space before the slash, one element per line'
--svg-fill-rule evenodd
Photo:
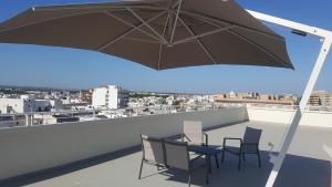
<path fill-rule="evenodd" d="M 1 0 L 0 21 L 33 6 L 97 1 L 101 0 Z M 331 0 L 238 0 L 237 2 L 246 9 L 332 30 Z M 160 92 L 302 93 L 321 43 L 314 37 L 302 38 L 274 25 L 271 28 L 286 37 L 295 71 L 209 65 L 157 72 L 97 52 L 0 43 L 0 84 L 69 89 L 117 84 L 128 90 Z M 330 54 L 315 89 L 332 92 L 331 70 Z"/>

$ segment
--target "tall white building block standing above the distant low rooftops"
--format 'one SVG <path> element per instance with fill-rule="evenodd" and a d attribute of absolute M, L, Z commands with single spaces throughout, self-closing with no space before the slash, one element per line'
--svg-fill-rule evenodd
<path fill-rule="evenodd" d="M 127 106 L 128 92 L 116 85 L 104 85 L 93 90 L 92 105 L 95 108 L 116 110 Z"/>

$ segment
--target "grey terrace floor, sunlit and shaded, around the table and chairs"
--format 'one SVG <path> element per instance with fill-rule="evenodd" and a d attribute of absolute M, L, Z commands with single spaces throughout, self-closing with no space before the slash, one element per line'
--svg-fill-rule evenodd
<path fill-rule="evenodd" d="M 241 137 L 245 127 L 263 129 L 261 146 L 262 168 L 258 167 L 256 156 L 247 156 L 240 172 L 237 170 L 237 158 L 226 155 L 220 169 L 212 162 L 210 184 L 205 184 L 205 168 L 198 160 L 193 169 L 191 186 L 209 187 L 263 187 L 272 165 L 269 163 L 270 147 L 278 149 L 286 127 L 282 124 L 247 122 L 208 131 L 209 143 L 221 145 L 226 136 Z M 43 172 L 34 176 L 2 184 L 6 187 L 181 187 L 187 186 L 186 174 L 174 170 L 162 170 L 145 165 L 144 178 L 138 180 L 142 153 L 131 148 L 101 156 L 91 160 Z M 200 162 L 200 163 L 199 163 Z M 277 179 L 277 187 L 332 187 L 332 129 L 300 127 L 291 145 L 289 155 Z"/>

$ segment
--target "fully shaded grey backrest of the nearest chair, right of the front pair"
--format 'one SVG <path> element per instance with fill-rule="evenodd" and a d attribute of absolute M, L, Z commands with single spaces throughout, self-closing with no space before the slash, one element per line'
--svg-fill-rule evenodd
<path fill-rule="evenodd" d="M 166 166 L 189 170 L 188 143 L 164 139 Z"/>

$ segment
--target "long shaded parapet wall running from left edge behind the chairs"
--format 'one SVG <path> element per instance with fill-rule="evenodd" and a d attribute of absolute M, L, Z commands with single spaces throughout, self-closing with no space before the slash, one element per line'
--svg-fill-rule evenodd
<path fill-rule="evenodd" d="M 248 121 L 248 114 L 241 107 L 3 128 L 0 180 L 139 145 L 141 134 L 177 135 L 185 120 L 201 121 L 207 128 Z"/>

